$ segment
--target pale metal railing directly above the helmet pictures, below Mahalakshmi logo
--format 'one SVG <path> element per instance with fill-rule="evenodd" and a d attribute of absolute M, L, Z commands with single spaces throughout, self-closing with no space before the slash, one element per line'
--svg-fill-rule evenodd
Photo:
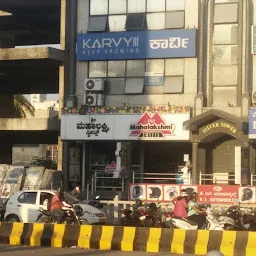
<path fill-rule="evenodd" d="M 132 183 L 191 184 L 191 174 L 132 172 Z"/>

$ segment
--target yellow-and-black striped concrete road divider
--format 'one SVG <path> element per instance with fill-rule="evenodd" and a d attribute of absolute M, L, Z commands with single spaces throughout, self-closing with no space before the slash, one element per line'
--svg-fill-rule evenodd
<path fill-rule="evenodd" d="M 254 256 L 256 232 L 0 223 L 0 243 L 196 255 L 220 250 L 225 256 Z"/>

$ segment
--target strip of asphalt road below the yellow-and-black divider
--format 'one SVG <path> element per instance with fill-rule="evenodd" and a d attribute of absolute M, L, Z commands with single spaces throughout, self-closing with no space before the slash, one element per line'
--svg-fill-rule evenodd
<path fill-rule="evenodd" d="M 8 246 L 0 245 L 1 256 L 170 256 L 178 254 L 169 253 L 144 253 L 144 252 L 120 252 L 120 251 L 97 251 L 79 248 L 57 249 L 47 247 Z M 193 256 L 192 254 L 184 254 Z"/>

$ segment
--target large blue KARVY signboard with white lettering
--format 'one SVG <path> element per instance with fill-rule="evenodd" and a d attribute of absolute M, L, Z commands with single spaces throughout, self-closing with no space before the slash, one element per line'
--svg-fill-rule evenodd
<path fill-rule="evenodd" d="M 125 60 L 196 56 L 196 29 L 77 35 L 77 60 Z"/>

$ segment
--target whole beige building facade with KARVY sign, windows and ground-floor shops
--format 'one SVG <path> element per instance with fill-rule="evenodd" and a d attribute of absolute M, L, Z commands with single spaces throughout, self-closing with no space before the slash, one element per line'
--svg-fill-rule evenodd
<path fill-rule="evenodd" d="M 188 161 L 190 183 L 250 184 L 254 2 L 78 0 L 66 186 L 70 173 L 93 191 L 175 183 Z"/>

